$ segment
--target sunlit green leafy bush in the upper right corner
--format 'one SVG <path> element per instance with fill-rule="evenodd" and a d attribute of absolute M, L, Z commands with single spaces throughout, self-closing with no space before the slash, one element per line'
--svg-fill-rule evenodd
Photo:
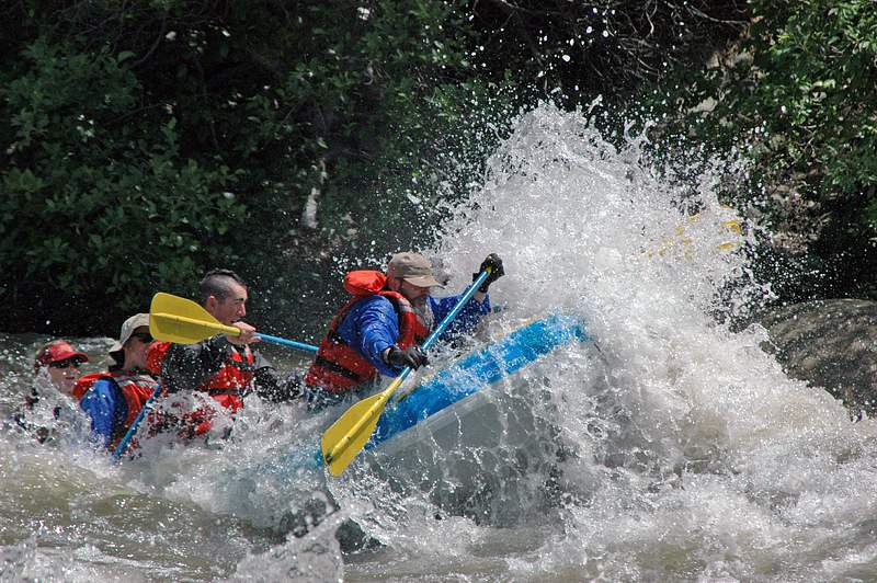
<path fill-rule="evenodd" d="M 747 110 L 779 136 L 771 155 L 820 169 L 818 198 L 859 196 L 877 184 L 877 12 L 874 2 L 804 2 L 790 13 L 753 2 L 754 67 Z M 781 24 L 782 26 L 778 26 Z M 877 199 L 869 201 L 874 207 Z M 873 221 L 875 216 L 870 217 Z"/>

